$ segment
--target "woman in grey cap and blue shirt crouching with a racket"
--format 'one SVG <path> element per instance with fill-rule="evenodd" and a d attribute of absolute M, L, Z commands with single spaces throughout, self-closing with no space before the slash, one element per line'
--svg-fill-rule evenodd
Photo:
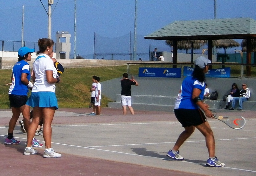
<path fill-rule="evenodd" d="M 209 153 L 206 166 L 224 167 L 225 164 L 215 157 L 214 135 L 205 117 L 205 115 L 208 118 L 213 117 L 212 112 L 208 109 L 209 106 L 203 102 L 205 73 L 208 72 L 209 63 L 211 61 L 207 58 L 203 56 L 198 57 L 195 60 L 195 68 L 192 75 L 187 76 L 182 82 L 175 101 L 174 113 L 185 130 L 180 134 L 173 148 L 167 153 L 167 156 L 175 160 L 184 160 L 180 156 L 179 148 L 193 134 L 195 128 L 197 128 L 205 137 L 205 143 Z"/>

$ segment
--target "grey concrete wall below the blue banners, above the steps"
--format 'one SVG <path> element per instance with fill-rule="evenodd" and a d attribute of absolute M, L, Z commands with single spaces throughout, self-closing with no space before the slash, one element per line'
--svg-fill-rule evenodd
<path fill-rule="evenodd" d="M 121 93 L 120 79 L 122 77 L 101 82 L 102 94 L 116 101 L 116 94 Z M 135 79 L 138 81 L 139 86 L 132 86 L 132 95 L 176 97 L 184 78 L 146 78 L 135 76 Z M 246 83 L 251 92 L 249 101 L 256 102 L 255 78 L 206 78 L 206 82 L 210 93 L 217 90 L 219 94 L 218 100 L 222 100 L 223 96 L 229 93 L 233 83 L 236 83 L 239 89 L 242 89 L 242 84 Z"/>

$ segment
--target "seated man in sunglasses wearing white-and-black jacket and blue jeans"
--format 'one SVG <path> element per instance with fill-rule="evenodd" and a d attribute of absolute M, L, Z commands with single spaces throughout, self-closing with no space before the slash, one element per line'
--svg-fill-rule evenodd
<path fill-rule="evenodd" d="M 242 110 L 242 103 L 246 102 L 250 98 L 250 90 L 247 88 L 246 84 L 242 85 L 242 90 L 240 91 L 239 97 L 234 97 L 232 101 L 232 107 L 229 110 L 234 110 L 236 102 L 239 102 L 239 107 L 237 110 Z"/>

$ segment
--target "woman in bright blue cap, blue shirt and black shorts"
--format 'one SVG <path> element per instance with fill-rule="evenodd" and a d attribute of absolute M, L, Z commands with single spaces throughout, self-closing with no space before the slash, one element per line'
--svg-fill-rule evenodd
<path fill-rule="evenodd" d="M 12 84 L 9 89 L 12 117 L 9 122 L 8 135 L 4 141 L 5 144 L 20 144 L 20 141 L 17 141 L 13 137 L 14 127 L 19 119 L 20 113 L 23 115 L 24 127 L 26 130 L 30 125 L 29 106 L 26 105 L 26 102 L 28 100 L 28 88 L 32 89 L 33 84 L 29 81 L 30 70 L 27 62 L 31 61 L 31 53 L 33 52 L 35 52 L 35 49 L 30 49 L 28 47 L 20 48 L 18 51 L 18 62 L 16 62 L 12 68 Z M 43 146 L 43 144 L 40 144 L 35 138 L 33 138 L 32 145 L 34 147 Z"/>

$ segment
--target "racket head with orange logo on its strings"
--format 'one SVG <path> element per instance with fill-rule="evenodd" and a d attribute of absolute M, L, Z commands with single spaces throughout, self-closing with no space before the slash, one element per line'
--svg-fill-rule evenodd
<path fill-rule="evenodd" d="M 242 116 L 223 117 L 221 121 L 236 130 L 243 128 L 246 123 L 245 118 Z"/>

